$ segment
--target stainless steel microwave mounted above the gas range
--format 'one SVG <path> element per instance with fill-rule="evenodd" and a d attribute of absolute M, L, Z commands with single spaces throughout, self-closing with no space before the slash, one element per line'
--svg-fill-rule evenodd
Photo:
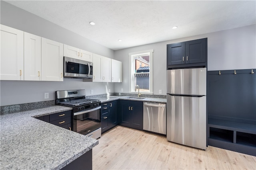
<path fill-rule="evenodd" d="M 92 78 L 92 62 L 64 57 L 64 77 Z"/>

